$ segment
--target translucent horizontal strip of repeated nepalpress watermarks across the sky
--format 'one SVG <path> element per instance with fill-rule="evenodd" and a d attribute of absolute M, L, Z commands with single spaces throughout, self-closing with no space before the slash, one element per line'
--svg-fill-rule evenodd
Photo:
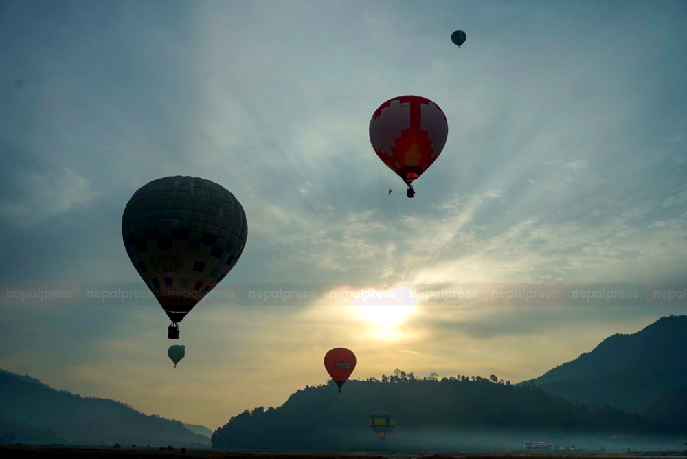
<path fill-rule="evenodd" d="M 212 290 L 145 284 L 0 285 L 0 306 L 145 306 L 157 298 L 194 300 L 218 306 L 324 305 L 403 306 L 425 304 L 483 306 L 687 306 L 686 284 L 219 284 Z M 161 300 L 162 301 L 162 300 Z"/>

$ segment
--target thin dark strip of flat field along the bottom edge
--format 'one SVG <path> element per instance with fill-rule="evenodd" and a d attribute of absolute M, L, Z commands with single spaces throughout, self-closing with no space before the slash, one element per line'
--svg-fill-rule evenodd
<path fill-rule="evenodd" d="M 98 458 L 98 459 L 134 459 L 134 458 L 176 458 L 182 456 L 181 449 L 174 451 L 161 451 L 159 448 L 113 448 L 113 447 L 48 447 L 35 445 L 2 445 L 0 454 L 3 458 Z M 513 452 L 510 454 L 442 454 L 442 455 L 378 455 L 378 454 L 339 454 L 339 453 L 235 453 L 216 451 L 211 449 L 188 449 L 185 456 L 194 459 L 449 459 L 449 458 L 474 458 L 474 459 L 502 459 L 502 458 L 533 458 L 533 459 L 574 459 L 589 458 L 589 456 L 612 456 L 613 458 L 673 458 L 687 457 L 679 452 L 645 453 L 645 454 L 524 454 Z"/>

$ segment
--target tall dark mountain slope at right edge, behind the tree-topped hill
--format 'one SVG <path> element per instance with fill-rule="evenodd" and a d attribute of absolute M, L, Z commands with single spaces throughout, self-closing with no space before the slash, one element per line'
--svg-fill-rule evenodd
<path fill-rule="evenodd" d="M 526 383 L 570 401 L 644 414 L 687 433 L 687 315 L 608 337 L 592 352 Z"/>

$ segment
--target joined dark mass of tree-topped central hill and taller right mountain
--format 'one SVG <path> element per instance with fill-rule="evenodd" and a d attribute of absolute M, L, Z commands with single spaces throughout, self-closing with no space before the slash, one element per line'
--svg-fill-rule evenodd
<path fill-rule="evenodd" d="M 348 381 L 342 394 L 331 384 L 306 387 L 281 407 L 231 418 L 213 434 L 212 445 L 371 451 L 376 438 L 367 421 L 379 410 L 396 418 L 386 442 L 396 451 L 510 449 L 537 439 L 592 449 L 681 448 L 686 352 L 687 316 L 671 316 L 633 335 L 609 337 L 589 354 L 517 387 L 496 377 L 438 381 L 400 371 L 382 381 Z"/>

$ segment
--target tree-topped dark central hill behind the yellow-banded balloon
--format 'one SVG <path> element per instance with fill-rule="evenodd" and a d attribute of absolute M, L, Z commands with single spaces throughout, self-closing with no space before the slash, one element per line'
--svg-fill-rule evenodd
<path fill-rule="evenodd" d="M 341 394 L 333 383 L 298 390 L 281 407 L 267 411 L 260 407 L 230 419 L 213 434 L 212 445 L 224 449 L 369 451 L 379 443 L 368 426 L 375 411 L 390 412 L 396 419 L 385 443 L 397 449 L 418 450 L 429 444 L 434 449 L 441 449 L 442 444 L 458 449 L 460 434 L 466 432 L 470 443 L 464 445 L 479 449 L 475 439 L 480 435 L 485 445 L 493 448 L 499 440 L 521 447 L 532 438 L 555 436 L 568 441 L 576 433 L 647 436 L 669 430 L 637 414 L 571 403 L 534 386 L 497 382 L 496 377 L 439 381 L 436 377 L 416 379 L 398 370 L 396 374 L 384 377 L 384 382 L 374 378 L 348 381 Z"/>

